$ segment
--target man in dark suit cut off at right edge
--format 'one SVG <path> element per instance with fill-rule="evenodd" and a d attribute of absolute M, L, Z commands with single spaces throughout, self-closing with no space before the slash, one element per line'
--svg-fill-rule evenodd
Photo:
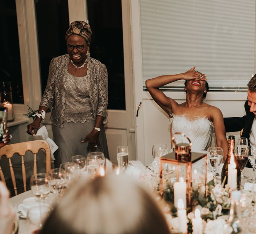
<path fill-rule="evenodd" d="M 248 83 L 247 101 L 244 103 L 244 109 L 246 115 L 243 117 L 224 118 L 226 132 L 237 132 L 243 129 L 241 137 L 248 139 L 248 145 L 256 145 L 256 74 Z M 250 166 L 248 163 L 247 166 Z"/>

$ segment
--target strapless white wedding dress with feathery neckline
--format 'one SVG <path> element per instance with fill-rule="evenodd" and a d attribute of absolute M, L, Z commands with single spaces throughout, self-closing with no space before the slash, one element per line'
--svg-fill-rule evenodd
<path fill-rule="evenodd" d="M 205 152 L 214 132 L 214 125 L 207 117 L 190 119 L 186 115 L 172 114 L 169 126 L 172 129 L 172 134 L 181 132 L 190 139 L 192 152 Z M 178 140 L 178 135 L 175 136 L 175 139 Z"/>

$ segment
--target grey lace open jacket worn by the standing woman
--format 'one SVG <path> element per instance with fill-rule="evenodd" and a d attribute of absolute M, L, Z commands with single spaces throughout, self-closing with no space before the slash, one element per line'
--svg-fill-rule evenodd
<path fill-rule="evenodd" d="M 63 127 L 64 122 L 64 103 L 65 92 L 63 86 L 63 78 L 68 72 L 69 55 L 61 55 L 53 58 L 50 67 L 47 86 L 42 96 L 40 106 L 52 108 L 51 121 L 54 126 Z M 96 115 L 104 117 L 103 124 L 107 122 L 107 69 L 100 61 L 88 58 L 87 76 L 90 104 L 92 106 L 94 119 Z"/>

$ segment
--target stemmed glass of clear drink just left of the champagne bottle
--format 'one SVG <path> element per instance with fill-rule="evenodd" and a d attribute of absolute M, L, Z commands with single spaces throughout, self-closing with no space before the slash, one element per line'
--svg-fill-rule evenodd
<path fill-rule="evenodd" d="M 207 159 L 214 174 L 214 184 L 217 184 L 216 173 L 223 159 L 223 150 L 221 147 L 209 147 L 207 149 Z"/>

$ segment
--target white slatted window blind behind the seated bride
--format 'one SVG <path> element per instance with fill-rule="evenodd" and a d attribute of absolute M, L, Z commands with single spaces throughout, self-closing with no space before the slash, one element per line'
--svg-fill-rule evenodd
<path fill-rule="evenodd" d="M 143 84 L 196 70 L 210 90 L 247 90 L 255 73 L 255 0 L 140 0 Z M 184 80 L 165 89 L 183 89 Z"/>

